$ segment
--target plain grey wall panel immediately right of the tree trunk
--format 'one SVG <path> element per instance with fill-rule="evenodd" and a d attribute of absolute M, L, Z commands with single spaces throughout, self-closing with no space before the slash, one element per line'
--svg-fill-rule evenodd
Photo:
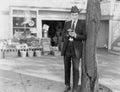
<path fill-rule="evenodd" d="M 97 36 L 97 47 L 105 47 L 108 45 L 108 35 L 109 35 L 109 22 L 101 21 L 100 31 Z"/>

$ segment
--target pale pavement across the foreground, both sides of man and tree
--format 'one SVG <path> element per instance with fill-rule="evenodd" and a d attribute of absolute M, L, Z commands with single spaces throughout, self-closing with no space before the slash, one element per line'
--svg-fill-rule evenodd
<path fill-rule="evenodd" d="M 97 61 L 99 83 L 120 92 L 120 56 L 98 49 Z M 63 92 L 64 87 L 61 56 L 0 59 L 0 92 Z"/>

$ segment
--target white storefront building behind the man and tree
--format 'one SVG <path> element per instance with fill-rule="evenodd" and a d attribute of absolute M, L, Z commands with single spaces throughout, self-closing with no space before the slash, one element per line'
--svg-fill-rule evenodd
<path fill-rule="evenodd" d="M 83 2 L 81 2 L 83 1 Z M 56 24 L 64 25 L 70 18 L 70 8 L 77 4 L 83 8 L 79 18 L 85 20 L 86 0 L 4 0 L 0 5 L 0 39 L 11 39 L 16 32 L 31 30 L 32 35 L 42 38 L 42 27 L 51 27 L 49 35 L 54 33 Z M 97 37 L 98 48 L 117 48 L 120 50 L 119 0 L 101 0 L 101 27 Z M 31 18 L 31 21 L 29 20 Z M 26 19 L 26 21 L 24 21 Z M 19 25 L 21 22 L 29 25 Z M 53 27 L 53 28 L 52 28 Z"/>

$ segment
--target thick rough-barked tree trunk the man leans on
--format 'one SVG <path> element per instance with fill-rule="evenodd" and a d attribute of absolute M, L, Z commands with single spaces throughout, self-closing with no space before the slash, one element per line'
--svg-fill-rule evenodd
<path fill-rule="evenodd" d="M 88 0 L 86 13 L 87 40 L 84 42 L 81 88 L 79 92 L 98 92 L 96 39 L 100 26 L 100 1 Z"/>

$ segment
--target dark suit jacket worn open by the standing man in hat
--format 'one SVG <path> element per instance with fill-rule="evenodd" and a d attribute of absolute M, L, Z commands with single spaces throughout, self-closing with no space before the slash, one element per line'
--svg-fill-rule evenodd
<path fill-rule="evenodd" d="M 67 21 L 64 26 L 64 30 L 62 32 L 62 41 L 63 41 L 63 46 L 62 46 L 62 51 L 61 55 L 65 55 L 66 48 L 69 42 L 69 37 L 67 36 L 67 30 L 71 28 L 71 22 L 72 21 Z M 83 47 L 83 40 L 86 40 L 86 30 L 85 30 L 85 24 L 83 21 L 78 20 L 75 28 L 75 32 L 77 34 L 76 38 L 74 38 L 73 45 L 74 45 L 74 50 L 75 50 L 75 55 L 77 58 L 82 57 L 82 47 Z"/>

